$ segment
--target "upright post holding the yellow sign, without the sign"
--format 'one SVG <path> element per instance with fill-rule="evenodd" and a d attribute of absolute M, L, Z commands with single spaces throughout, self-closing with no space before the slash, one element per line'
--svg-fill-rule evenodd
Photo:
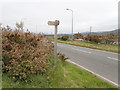
<path fill-rule="evenodd" d="M 55 35 L 54 35 L 54 64 L 57 61 L 57 25 L 55 25 Z"/>

